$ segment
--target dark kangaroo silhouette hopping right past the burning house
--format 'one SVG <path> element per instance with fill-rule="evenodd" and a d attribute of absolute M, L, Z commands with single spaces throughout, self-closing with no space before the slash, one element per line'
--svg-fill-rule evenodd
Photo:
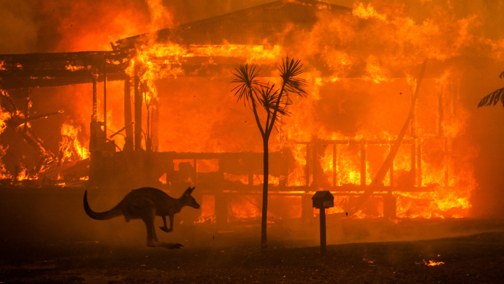
<path fill-rule="evenodd" d="M 200 208 L 200 205 L 191 194 L 195 187 L 187 187 L 183 195 L 172 198 L 166 193 L 153 187 L 142 187 L 131 191 L 116 206 L 105 212 L 91 210 L 88 203 L 88 191 L 84 192 L 84 210 L 89 217 L 95 220 L 107 220 L 117 216 L 124 216 L 127 222 L 131 219 L 142 219 L 147 227 L 147 246 L 165 247 L 167 249 L 179 249 L 181 244 L 158 242 L 154 219 L 156 216 L 163 218 L 164 225 L 159 227 L 165 232 L 173 230 L 173 216 L 180 212 L 182 207 L 191 206 Z M 170 227 L 166 226 L 166 216 L 170 217 Z"/>

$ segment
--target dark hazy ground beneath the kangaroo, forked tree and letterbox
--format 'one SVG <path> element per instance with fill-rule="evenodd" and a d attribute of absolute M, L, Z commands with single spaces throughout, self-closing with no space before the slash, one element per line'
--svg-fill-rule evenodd
<path fill-rule="evenodd" d="M 257 222 L 187 222 L 157 230 L 178 250 L 145 246 L 141 221 L 91 220 L 81 190 L 0 188 L 0 283 L 502 283 L 502 220 L 273 220 L 267 252 Z M 90 204 L 108 195 L 89 192 Z M 91 197 L 95 196 L 95 197 Z M 184 220 L 186 222 L 184 222 Z M 156 220 L 161 225 L 161 220 Z M 429 266 L 431 261 L 439 265 Z"/>

